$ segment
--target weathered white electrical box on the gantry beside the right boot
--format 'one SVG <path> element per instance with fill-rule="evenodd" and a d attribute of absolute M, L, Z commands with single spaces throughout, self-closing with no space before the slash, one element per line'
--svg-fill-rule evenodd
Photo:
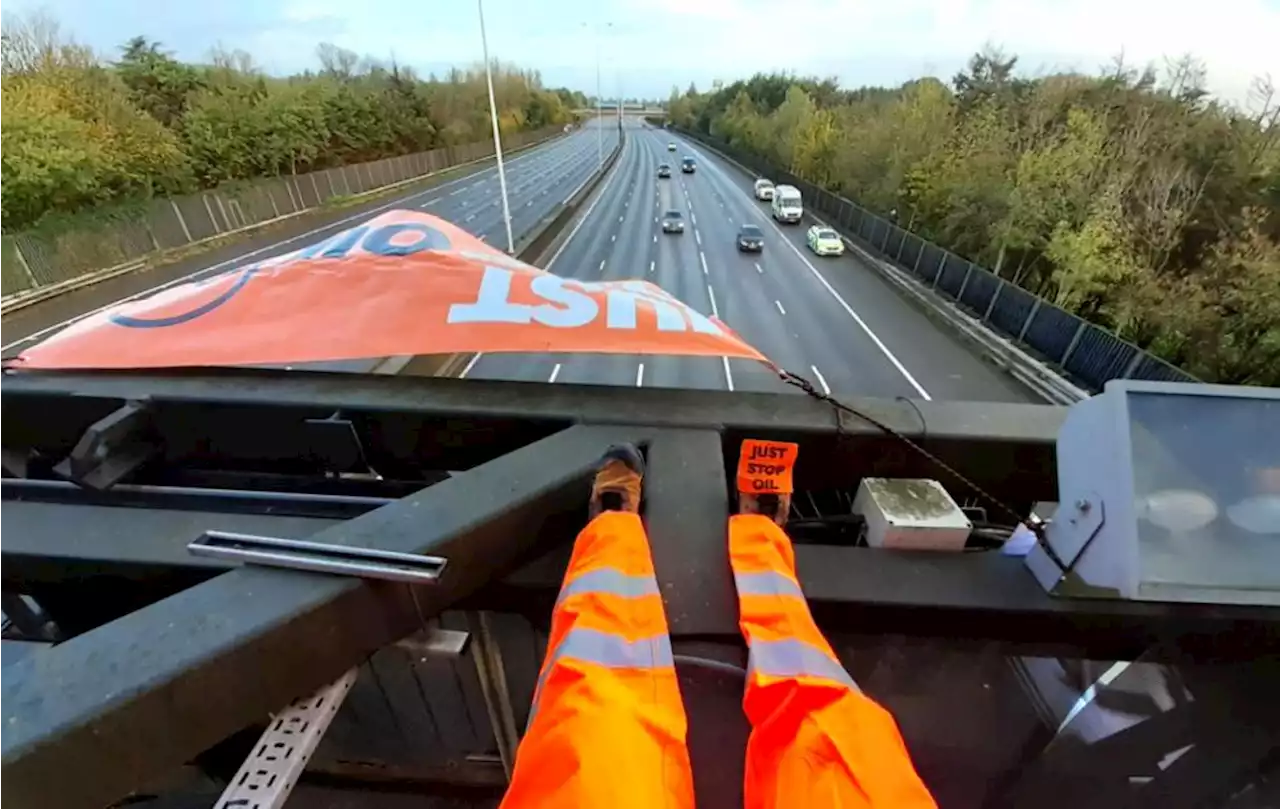
<path fill-rule="evenodd" d="M 867 544 L 899 550 L 963 550 L 973 524 L 936 480 L 864 477 L 854 513 Z"/>

